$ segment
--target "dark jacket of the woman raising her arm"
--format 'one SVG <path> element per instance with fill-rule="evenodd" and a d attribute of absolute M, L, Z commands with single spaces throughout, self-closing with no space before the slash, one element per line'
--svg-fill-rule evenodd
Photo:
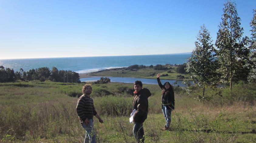
<path fill-rule="evenodd" d="M 161 89 L 165 89 L 165 87 L 162 85 L 160 81 L 160 78 L 157 78 L 157 82 Z M 174 109 L 175 100 L 174 100 L 174 91 L 172 89 L 172 86 L 170 86 L 168 90 L 165 89 L 165 92 L 161 96 L 161 100 L 162 100 L 163 106 Z"/>

